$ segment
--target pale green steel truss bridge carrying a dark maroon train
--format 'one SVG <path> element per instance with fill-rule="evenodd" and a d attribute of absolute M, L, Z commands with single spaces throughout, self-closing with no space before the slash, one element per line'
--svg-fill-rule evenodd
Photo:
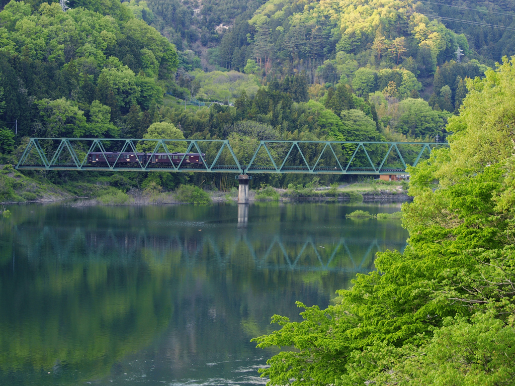
<path fill-rule="evenodd" d="M 16 169 L 176 171 L 230 173 L 403 174 L 435 147 L 429 142 L 253 141 L 234 144 L 211 139 L 30 138 Z M 106 162 L 90 163 L 88 154 Z M 146 153 L 125 162 L 120 155 Z M 108 159 L 107 153 L 119 153 Z M 173 161 L 174 153 L 181 153 Z M 200 154 L 190 164 L 187 153 Z M 158 155 L 164 162 L 152 163 Z M 238 155 L 236 155 L 238 154 Z"/>

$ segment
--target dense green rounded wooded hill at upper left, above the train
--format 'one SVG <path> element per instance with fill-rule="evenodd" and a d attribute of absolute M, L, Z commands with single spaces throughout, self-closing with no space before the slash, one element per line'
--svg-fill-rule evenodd
<path fill-rule="evenodd" d="M 17 119 L 21 136 L 117 136 L 124 125 L 110 122 L 159 102 L 178 66 L 175 47 L 121 3 L 116 9 L 7 4 L 0 119 Z"/>

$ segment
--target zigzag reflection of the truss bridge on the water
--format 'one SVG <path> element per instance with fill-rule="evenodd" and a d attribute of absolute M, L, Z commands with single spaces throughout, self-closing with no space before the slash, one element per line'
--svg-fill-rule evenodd
<path fill-rule="evenodd" d="M 75 231 L 45 226 L 35 240 L 30 228 L 16 230 L 18 244 L 23 245 L 29 261 L 38 264 L 41 251 L 66 265 L 68 262 L 109 261 L 134 262 L 143 253 L 151 251 L 150 257 L 166 262 L 171 255 L 180 252 L 180 264 L 195 267 L 200 261 L 216 262 L 224 270 L 232 259 L 251 259 L 255 268 L 261 270 L 327 271 L 339 273 L 367 273 L 373 269 L 377 251 L 386 248 L 403 249 L 405 243 L 388 245 L 377 239 L 355 239 L 344 236 L 306 237 L 302 240 L 285 240 L 280 235 L 250 239 L 246 232 L 233 233 L 227 238 L 208 232 L 187 234 L 182 230 L 173 235 L 148 235 L 145 230 L 113 232 L 112 230 Z M 29 242 L 30 240 L 30 242 Z M 320 245 L 324 243 L 324 245 Z M 177 256 L 177 255 L 176 255 Z M 245 257 L 248 256 L 248 257 Z"/>

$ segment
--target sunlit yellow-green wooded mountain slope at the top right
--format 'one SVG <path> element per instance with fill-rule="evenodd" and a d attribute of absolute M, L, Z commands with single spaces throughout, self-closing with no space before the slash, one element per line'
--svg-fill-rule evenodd
<path fill-rule="evenodd" d="M 336 60 L 336 66 L 346 66 L 349 60 L 358 67 L 403 65 L 413 73 L 419 71 L 421 77 L 430 76 L 458 46 L 467 55 L 470 50 L 465 36 L 417 13 L 420 4 L 411 0 L 270 0 L 248 21 L 247 41 L 238 44 L 238 26 L 222 39 L 220 57 L 226 67 L 243 69 L 240 57 L 245 49 L 246 57 L 255 58 L 265 72 L 304 70 L 312 81 L 333 77 L 328 68 L 317 72 L 327 59 Z"/>

